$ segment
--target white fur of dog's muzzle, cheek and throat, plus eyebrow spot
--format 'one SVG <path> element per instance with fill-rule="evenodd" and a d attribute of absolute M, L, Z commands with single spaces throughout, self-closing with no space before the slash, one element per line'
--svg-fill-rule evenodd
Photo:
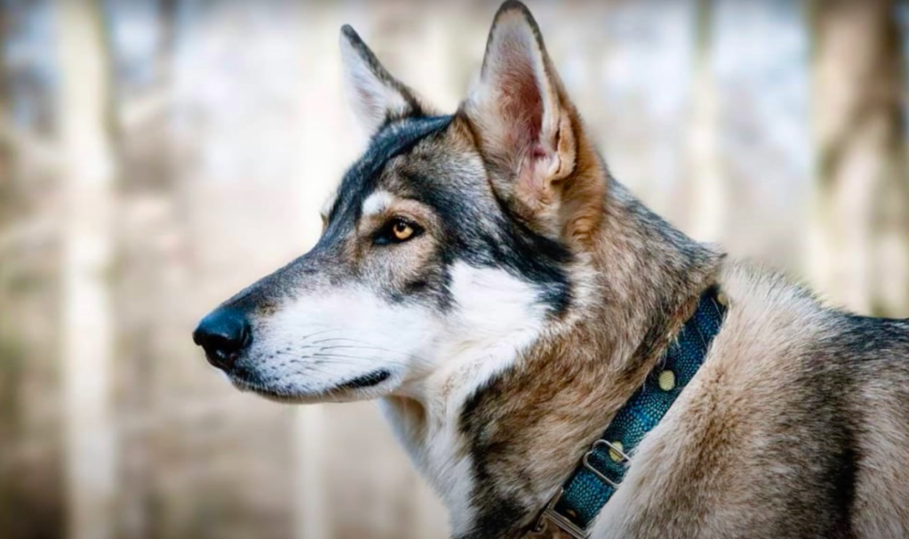
<path fill-rule="evenodd" d="M 364 211 L 387 202 L 376 193 Z M 458 417 L 466 399 L 512 365 L 537 340 L 546 306 L 534 283 L 504 269 L 455 262 L 450 312 L 392 304 L 366 287 L 326 290 L 286 305 L 256 328 L 257 378 L 297 400 L 321 402 L 324 392 L 366 373 L 391 371 L 389 382 L 359 399 L 404 395 L 422 403 L 419 426 L 391 401 L 383 408 L 395 432 L 452 513 L 455 534 L 472 525 L 473 463 L 464 452 Z M 346 347 L 346 348 L 338 348 Z"/>

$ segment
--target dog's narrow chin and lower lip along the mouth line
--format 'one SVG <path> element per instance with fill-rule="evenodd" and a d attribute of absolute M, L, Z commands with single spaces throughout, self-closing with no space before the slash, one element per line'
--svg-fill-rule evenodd
<path fill-rule="evenodd" d="M 327 384 L 325 389 L 309 390 L 297 388 L 282 381 L 264 382 L 249 380 L 235 373 L 228 375 L 235 388 L 242 392 L 254 392 L 270 401 L 293 404 L 316 404 L 320 402 L 355 402 L 381 397 L 391 392 L 394 373 L 386 369 L 369 371 L 360 376 Z"/>

